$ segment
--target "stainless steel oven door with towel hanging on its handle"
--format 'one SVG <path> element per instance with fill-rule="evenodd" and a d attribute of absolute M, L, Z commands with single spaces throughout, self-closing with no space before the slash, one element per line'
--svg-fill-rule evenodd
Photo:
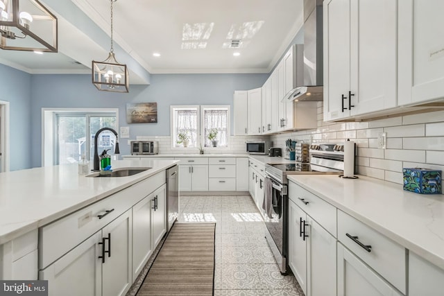
<path fill-rule="evenodd" d="M 287 272 L 287 223 L 288 223 L 288 195 L 287 184 L 280 184 L 278 180 L 266 175 L 267 182 L 271 182 L 271 218 L 265 214 L 266 240 L 270 245 L 282 274 Z M 266 192 L 268 195 L 270 192 Z"/>

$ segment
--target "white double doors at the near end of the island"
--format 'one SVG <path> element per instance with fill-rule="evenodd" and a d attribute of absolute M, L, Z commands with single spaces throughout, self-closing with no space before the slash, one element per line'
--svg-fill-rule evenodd
<path fill-rule="evenodd" d="M 49 295 L 125 295 L 132 277 L 131 210 L 40 271 Z"/>

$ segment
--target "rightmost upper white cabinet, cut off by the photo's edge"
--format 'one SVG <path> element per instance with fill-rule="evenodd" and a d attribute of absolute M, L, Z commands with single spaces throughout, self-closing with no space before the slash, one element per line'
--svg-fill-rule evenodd
<path fill-rule="evenodd" d="M 398 102 L 444 96 L 444 1 L 402 0 L 399 6 Z"/>

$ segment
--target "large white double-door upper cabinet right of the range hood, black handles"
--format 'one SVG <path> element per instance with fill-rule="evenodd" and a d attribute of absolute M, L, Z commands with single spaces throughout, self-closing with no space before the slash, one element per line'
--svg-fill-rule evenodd
<path fill-rule="evenodd" d="M 396 107 L 397 3 L 324 2 L 325 121 Z"/>

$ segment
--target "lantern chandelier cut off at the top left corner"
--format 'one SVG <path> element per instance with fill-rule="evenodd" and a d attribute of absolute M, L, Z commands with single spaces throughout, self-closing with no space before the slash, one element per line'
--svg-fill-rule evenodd
<path fill-rule="evenodd" d="M 0 49 L 56 53 L 57 17 L 37 0 L 0 0 Z"/>

